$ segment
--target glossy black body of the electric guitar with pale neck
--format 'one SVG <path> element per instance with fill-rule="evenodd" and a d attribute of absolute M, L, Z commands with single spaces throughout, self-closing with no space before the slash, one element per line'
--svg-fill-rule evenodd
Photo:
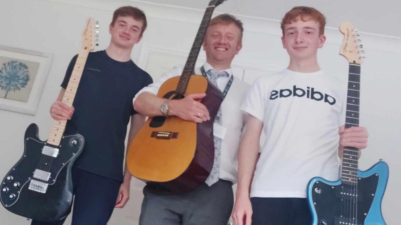
<path fill-rule="evenodd" d="M 13 180 L 8 181 L 4 177 L 0 200 L 8 211 L 17 215 L 38 221 L 57 221 L 67 216 L 71 210 L 71 167 L 81 154 L 85 141 L 79 134 L 63 136 L 57 147 L 59 155 L 51 157 L 42 154 L 43 147 L 49 144 L 38 139 L 37 131 L 38 127 L 35 124 L 26 129 L 24 155 L 6 175 L 12 176 Z M 33 178 L 35 169 L 51 173 L 49 181 Z M 29 190 L 31 179 L 49 184 L 46 193 Z M 14 187 L 15 182 L 20 183 L 20 187 Z M 5 193 L 4 188 L 8 188 L 9 191 Z M 15 199 L 10 199 L 11 194 L 16 195 Z"/>

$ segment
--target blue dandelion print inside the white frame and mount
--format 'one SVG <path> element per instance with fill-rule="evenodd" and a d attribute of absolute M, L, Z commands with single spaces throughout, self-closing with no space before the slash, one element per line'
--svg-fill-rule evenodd
<path fill-rule="evenodd" d="M 0 57 L 0 98 L 27 102 L 39 63 Z"/>

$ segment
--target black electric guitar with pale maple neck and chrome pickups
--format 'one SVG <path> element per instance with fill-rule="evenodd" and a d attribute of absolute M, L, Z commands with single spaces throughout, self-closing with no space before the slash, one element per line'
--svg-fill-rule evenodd
<path fill-rule="evenodd" d="M 71 107 L 89 51 L 94 49 L 98 25 L 89 19 L 83 33 L 83 49 L 71 74 L 63 102 Z M 96 31 L 95 31 L 96 30 Z M 24 137 L 24 153 L 8 171 L 0 188 L 0 201 L 10 212 L 38 221 L 57 221 L 71 210 L 71 167 L 84 146 L 82 135 L 64 136 L 67 121 L 54 121 L 47 141 L 38 139 L 31 124 Z"/>

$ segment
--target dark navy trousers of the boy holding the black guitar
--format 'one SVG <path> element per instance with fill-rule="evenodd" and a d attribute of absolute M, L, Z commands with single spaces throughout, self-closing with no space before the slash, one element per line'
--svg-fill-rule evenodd
<path fill-rule="evenodd" d="M 113 213 L 121 181 L 73 167 L 73 218 L 71 225 L 106 225 Z M 32 220 L 31 225 L 62 225 Z"/>

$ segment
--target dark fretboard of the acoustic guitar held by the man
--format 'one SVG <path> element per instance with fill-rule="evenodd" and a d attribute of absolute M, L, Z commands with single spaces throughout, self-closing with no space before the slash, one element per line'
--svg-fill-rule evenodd
<path fill-rule="evenodd" d="M 194 43 L 192 44 L 192 48 L 186 60 L 184 70 L 182 71 L 180 81 L 178 82 L 176 89 L 177 93 L 185 93 L 189 78 L 192 74 L 194 74 L 196 59 L 198 58 L 199 51 L 201 50 L 203 38 L 205 37 L 207 26 L 209 26 L 209 22 L 214 10 L 215 6 L 209 6 L 203 15 L 201 26 L 199 26 L 198 32 L 196 33 Z"/>

